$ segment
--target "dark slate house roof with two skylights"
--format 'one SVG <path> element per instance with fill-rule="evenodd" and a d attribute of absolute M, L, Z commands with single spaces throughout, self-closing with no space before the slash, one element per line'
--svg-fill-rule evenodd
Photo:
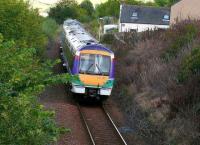
<path fill-rule="evenodd" d="M 121 5 L 120 23 L 169 25 L 170 9 Z"/>

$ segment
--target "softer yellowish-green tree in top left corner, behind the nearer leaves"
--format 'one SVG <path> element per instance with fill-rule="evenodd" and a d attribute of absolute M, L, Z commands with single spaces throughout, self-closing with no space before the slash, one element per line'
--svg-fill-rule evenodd
<path fill-rule="evenodd" d="M 43 52 L 46 37 L 42 31 L 43 18 L 37 10 L 22 0 L 0 1 L 0 33 L 6 40 L 13 39 L 20 47 L 34 47 Z"/>

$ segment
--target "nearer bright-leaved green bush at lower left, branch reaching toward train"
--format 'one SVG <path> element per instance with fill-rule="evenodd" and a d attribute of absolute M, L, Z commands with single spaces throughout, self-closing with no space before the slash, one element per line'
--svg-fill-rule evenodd
<path fill-rule="evenodd" d="M 0 145 L 44 145 L 57 140 L 62 128 L 54 113 L 45 111 L 37 96 L 56 81 L 53 63 L 41 63 L 36 49 L 18 48 L 0 35 Z"/>

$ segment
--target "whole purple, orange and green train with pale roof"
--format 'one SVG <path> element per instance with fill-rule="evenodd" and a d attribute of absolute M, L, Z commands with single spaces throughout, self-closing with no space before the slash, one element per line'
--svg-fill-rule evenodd
<path fill-rule="evenodd" d="M 107 99 L 114 85 L 114 53 L 100 44 L 77 20 L 63 23 L 63 66 L 72 76 L 71 92 L 87 98 Z"/>

